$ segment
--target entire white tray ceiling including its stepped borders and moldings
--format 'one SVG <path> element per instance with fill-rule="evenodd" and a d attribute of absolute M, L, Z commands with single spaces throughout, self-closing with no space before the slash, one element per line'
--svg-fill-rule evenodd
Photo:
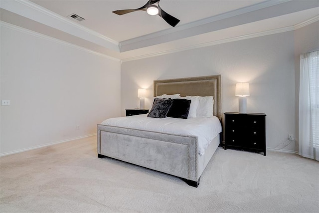
<path fill-rule="evenodd" d="M 122 61 L 294 30 L 319 20 L 319 0 L 160 0 L 180 22 L 113 10 L 147 0 L 1 0 L 0 19 Z M 79 22 L 68 15 L 85 18 Z M 3 23 L 2 22 L 2 23 Z"/>

